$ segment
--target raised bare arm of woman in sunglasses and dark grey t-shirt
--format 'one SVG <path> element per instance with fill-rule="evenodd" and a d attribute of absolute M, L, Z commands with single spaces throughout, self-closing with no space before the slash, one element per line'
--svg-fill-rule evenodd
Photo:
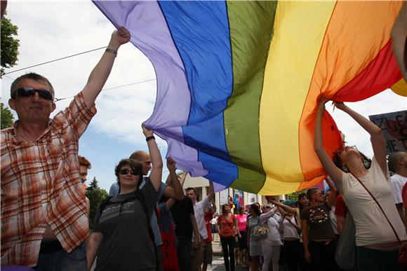
<path fill-rule="evenodd" d="M 159 151 L 159 147 L 156 144 L 156 140 L 153 137 L 154 132 L 152 130 L 147 130 L 147 128 L 142 125 L 142 133 L 145 135 L 145 138 L 148 139 L 147 146 L 152 162 L 152 170 L 149 174 L 149 179 L 151 180 L 154 189 L 158 191 L 161 186 L 163 160 L 161 159 L 161 153 Z"/>

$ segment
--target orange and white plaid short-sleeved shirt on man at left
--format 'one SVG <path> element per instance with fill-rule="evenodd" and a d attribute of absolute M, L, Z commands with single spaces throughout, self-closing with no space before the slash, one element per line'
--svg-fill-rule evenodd
<path fill-rule="evenodd" d="M 1 265 L 35 266 L 47 225 L 67 252 L 88 237 L 78 141 L 95 113 L 80 92 L 35 142 L 1 130 Z"/>

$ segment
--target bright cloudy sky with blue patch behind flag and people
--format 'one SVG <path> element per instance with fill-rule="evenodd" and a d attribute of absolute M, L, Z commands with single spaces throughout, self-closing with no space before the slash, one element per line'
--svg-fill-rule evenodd
<path fill-rule="evenodd" d="M 9 0 L 6 18 L 18 26 L 20 40 L 18 64 L 6 69 L 6 73 L 107 46 L 114 31 L 113 25 L 91 1 Z M 57 109 L 51 117 L 54 116 L 65 109 L 72 97 L 84 88 L 103 50 L 6 74 L 1 79 L 1 102 L 8 106 L 13 79 L 33 71 L 51 81 L 56 98 L 68 97 L 56 102 Z M 116 181 L 116 163 L 122 158 L 128 158 L 133 151 L 147 151 L 140 125 L 154 109 L 154 67 L 140 50 L 127 43 L 119 49 L 104 89 L 109 90 L 102 91 L 95 102 L 98 113 L 79 141 L 79 155 L 85 156 L 92 163 L 88 182 L 95 176 L 100 187 L 109 190 Z M 407 98 L 385 90 L 370 99 L 348 105 L 368 117 L 406 110 Z M 346 141 L 371 157 L 373 151 L 368 134 L 342 111 L 336 109 L 332 112 L 331 106 L 327 106 L 327 109 L 339 129 L 346 134 Z M 14 111 L 12 113 L 15 115 Z M 161 155 L 165 157 L 166 142 L 157 139 L 157 143 Z M 167 174 L 168 171 L 164 169 L 163 176 Z"/>

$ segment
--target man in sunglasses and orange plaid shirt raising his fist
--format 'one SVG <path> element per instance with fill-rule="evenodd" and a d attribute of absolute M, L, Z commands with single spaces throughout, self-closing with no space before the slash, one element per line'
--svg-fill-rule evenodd
<path fill-rule="evenodd" d="M 1 265 L 86 270 L 89 229 L 78 141 L 96 113 L 117 50 L 129 40 L 126 28 L 113 32 L 84 90 L 53 119 L 48 79 L 31 73 L 11 85 L 8 103 L 18 120 L 1 130 Z"/>

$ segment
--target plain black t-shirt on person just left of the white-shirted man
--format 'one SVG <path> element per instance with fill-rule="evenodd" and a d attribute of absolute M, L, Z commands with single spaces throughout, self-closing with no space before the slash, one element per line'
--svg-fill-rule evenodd
<path fill-rule="evenodd" d="M 194 205 L 192 200 L 184 196 L 184 199 L 175 202 L 171 207 L 171 214 L 175 221 L 175 235 L 192 240 L 192 222 L 191 214 L 194 214 Z"/>

